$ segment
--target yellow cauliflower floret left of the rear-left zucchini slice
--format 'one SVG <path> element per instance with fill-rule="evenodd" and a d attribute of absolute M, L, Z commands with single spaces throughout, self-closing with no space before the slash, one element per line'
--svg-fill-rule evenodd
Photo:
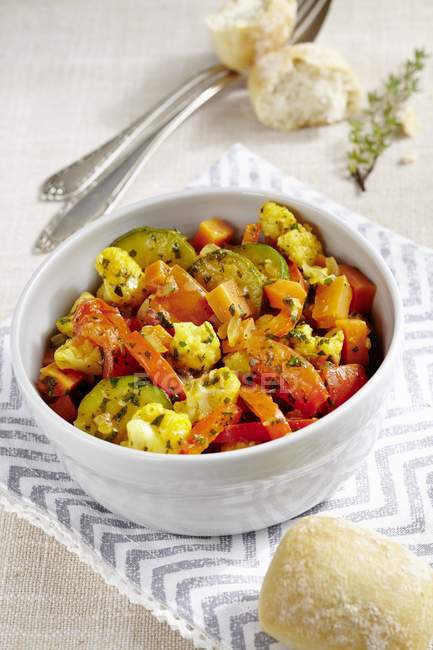
<path fill-rule="evenodd" d="M 122 248 L 104 248 L 96 258 L 95 268 L 102 278 L 99 298 L 114 304 L 139 305 L 143 301 L 143 272 Z"/>

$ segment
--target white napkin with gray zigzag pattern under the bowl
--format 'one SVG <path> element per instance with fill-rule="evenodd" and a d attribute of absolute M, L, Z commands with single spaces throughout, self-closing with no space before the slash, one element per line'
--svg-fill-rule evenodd
<path fill-rule="evenodd" d="M 433 250 L 417 246 L 285 177 L 241 145 L 194 185 L 288 192 L 326 207 L 380 250 L 402 292 L 405 349 L 381 436 L 356 476 L 314 512 L 362 522 L 433 562 Z M 156 532 L 95 503 L 66 473 L 22 405 L 0 326 L 0 505 L 57 537 L 131 601 L 197 647 L 277 650 L 260 631 L 257 597 L 289 524 L 218 538 Z"/>

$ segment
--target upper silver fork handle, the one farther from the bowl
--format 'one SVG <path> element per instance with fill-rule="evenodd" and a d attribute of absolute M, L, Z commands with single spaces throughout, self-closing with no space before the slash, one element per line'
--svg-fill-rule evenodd
<path fill-rule="evenodd" d="M 191 99 L 190 92 L 196 86 L 226 73 L 227 68 L 217 64 L 188 79 L 114 138 L 47 178 L 41 187 L 40 198 L 44 201 L 65 201 L 85 191 L 185 108 Z"/>

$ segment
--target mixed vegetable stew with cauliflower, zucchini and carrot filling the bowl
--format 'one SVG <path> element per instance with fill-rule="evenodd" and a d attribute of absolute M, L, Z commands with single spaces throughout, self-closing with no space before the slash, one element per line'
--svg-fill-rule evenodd
<path fill-rule="evenodd" d="M 143 227 L 95 262 L 101 284 L 56 322 L 38 390 L 92 436 L 165 454 L 230 451 L 338 408 L 374 369 L 374 284 L 265 203 L 242 241 Z"/>

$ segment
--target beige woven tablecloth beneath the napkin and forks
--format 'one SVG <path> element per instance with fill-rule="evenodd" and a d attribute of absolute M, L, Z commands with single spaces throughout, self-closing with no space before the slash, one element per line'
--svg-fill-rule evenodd
<path fill-rule="evenodd" d="M 30 249 L 53 208 L 38 184 L 213 60 L 203 26 L 217 0 L 0 0 L 0 318 L 40 258 Z M 429 0 L 334 0 L 320 41 L 342 50 L 367 87 L 431 47 Z M 433 47 L 431 47 L 433 51 Z M 179 189 L 234 141 L 340 203 L 433 245 L 433 63 L 414 105 L 423 130 L 387 152 L 360 195 L 344 178 L 346 126 L 281 135 L 255 121 L 243 91 L 185 124 L 123 199 Z M 416 163 L 399 165 L 414 152 Z M 0 513 L 0 648 L 190 648 L 105 586 L 41 531 Z"/>

